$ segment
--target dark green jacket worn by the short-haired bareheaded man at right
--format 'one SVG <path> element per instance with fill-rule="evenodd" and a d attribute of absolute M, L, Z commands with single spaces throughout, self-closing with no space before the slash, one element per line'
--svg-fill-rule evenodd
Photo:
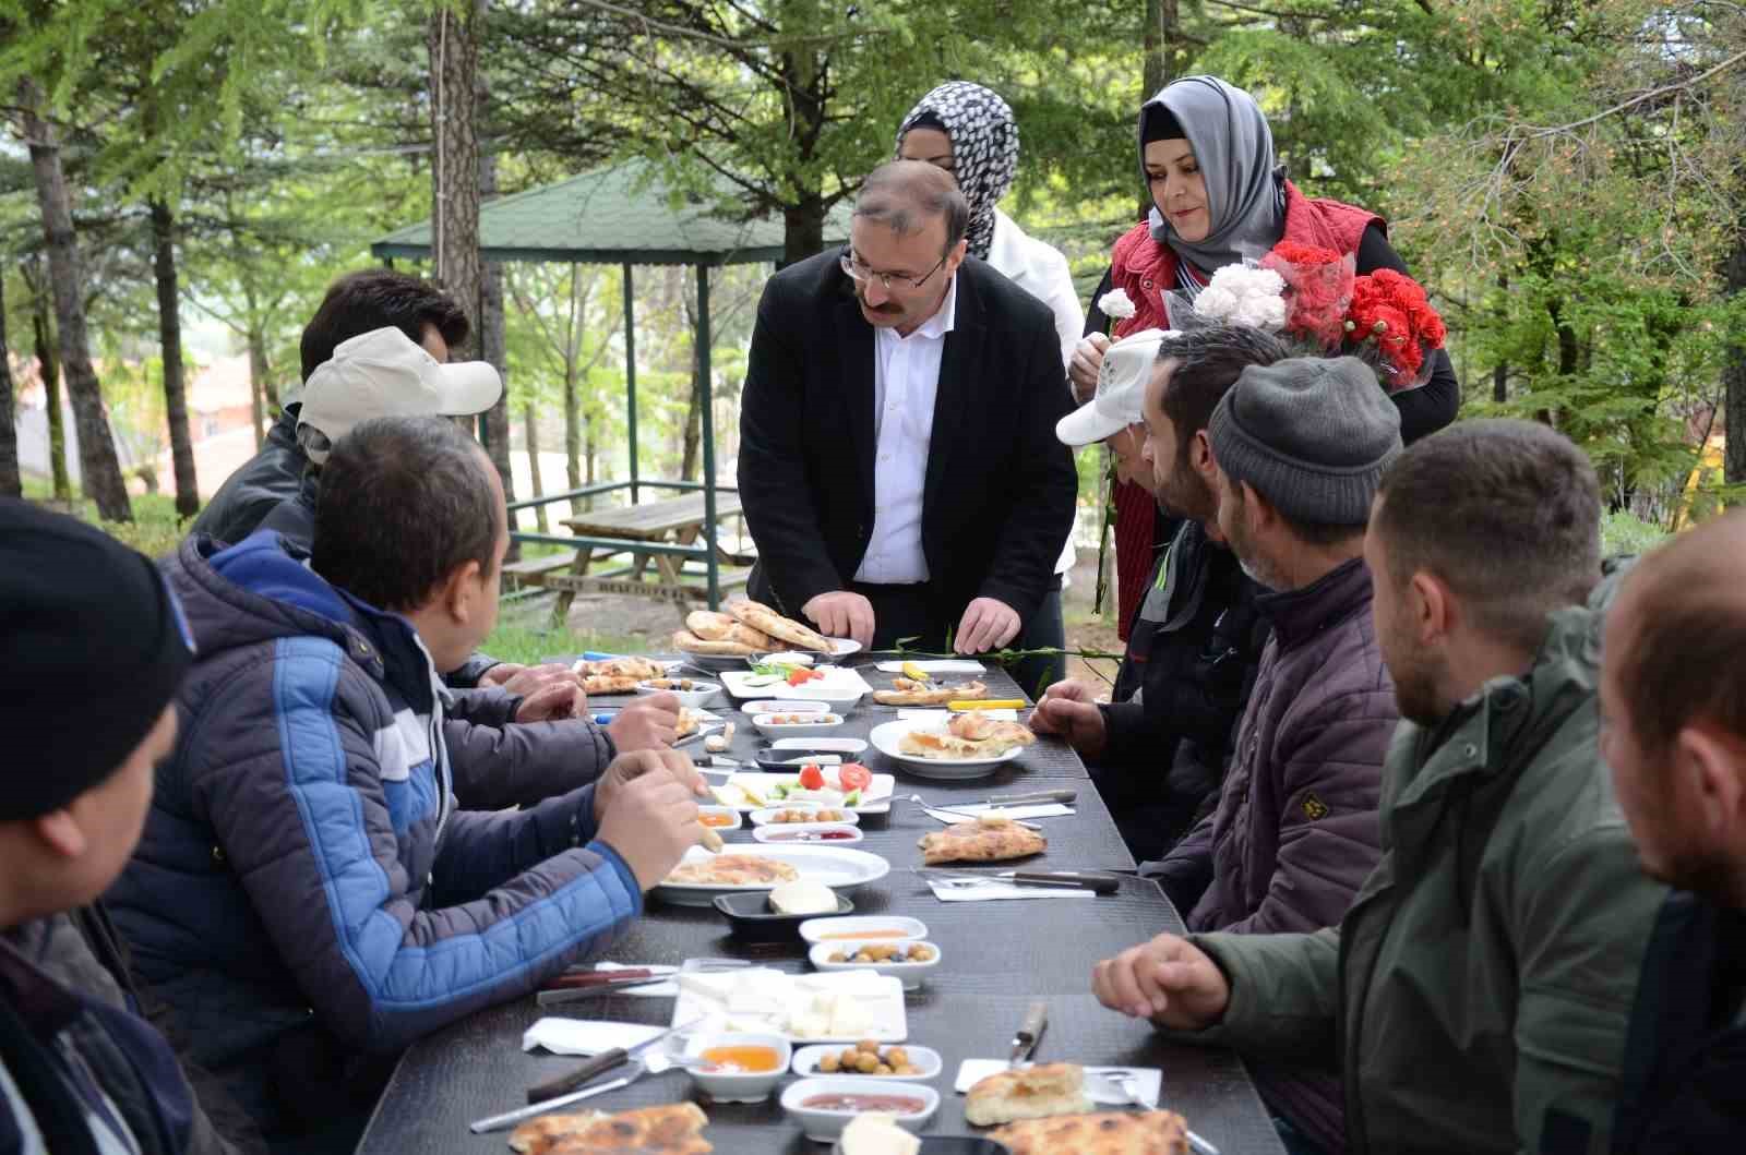
<path fill-rule="evenodd" d="M 1201 1036 L 1337 1063 L 1350 1152 L 1608 1150 L 1667 890 L 1596 748 L 1598 658 L 1599 612 L 1559 611 L 1524 677 L 1433 731 L 1402 722 L 1383 858 L 1337 928 L 1194 939 L 1231 979 Z"/>

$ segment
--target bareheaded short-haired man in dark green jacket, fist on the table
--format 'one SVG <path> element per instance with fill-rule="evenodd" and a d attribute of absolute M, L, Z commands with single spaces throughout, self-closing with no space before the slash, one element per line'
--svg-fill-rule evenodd
<path fill-rule="evenodd" d="M 1159 935 L 1096 994 L 1337 1070 L 1350 1152 L 1601 1155 L 1667 890 L 1596 748 L 1594 469 L 1542 426 L 1453 426 L 1383 478 L 1364 551 L 1404 719 L 1376 871 L 1337 928 Z"/>

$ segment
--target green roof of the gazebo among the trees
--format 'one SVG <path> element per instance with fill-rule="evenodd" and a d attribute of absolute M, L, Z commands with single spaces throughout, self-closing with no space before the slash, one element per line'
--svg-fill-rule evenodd
<path fill-rule="evenodd" d="M 733 188 L 721 183 L 723 197 Z M 826 246 L 849 237 L 849 206 L 824 222 Z M 686 199 L 672 208 L 667 187 L 646 161 L 608 167 L 501 197 L 478 209 L 484 260 L 585 265 L 739 265 L 782 258 L 782 222 L 733 220 L 712 204 Z M 428 258 L 431 223 L 398 229 L 370 246 L 377 258 Z"/>

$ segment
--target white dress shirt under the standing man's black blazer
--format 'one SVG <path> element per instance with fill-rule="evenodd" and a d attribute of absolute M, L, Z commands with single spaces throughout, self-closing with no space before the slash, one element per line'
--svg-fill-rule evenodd
<path fill-rule="evenodd" d="M 922 492 L 927 445 L 934 436 L 939 358 L 959 312 L 952 277 L 934 316 L 913 333 L 873 330 L 873 537 L 856 581 L 910 584 L 927 581 L 922 553 Z"/>

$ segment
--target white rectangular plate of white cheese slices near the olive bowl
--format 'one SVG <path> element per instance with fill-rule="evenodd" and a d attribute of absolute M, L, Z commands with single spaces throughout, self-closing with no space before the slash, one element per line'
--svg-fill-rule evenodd
<path fill-rule="evenodd" d="M 753 993 L 747 993 L 753 988 Z M 787 1029 L 794 1007 L 810 1007 L 819 994 L 850 994 L 868 1017 L 866 1031 L 843 1036 L 798 1036 Z M 903 984 L 871 970 L 791 975 L 768 967 L 683 975 L 672 1000 L 672 1024 L 702 1019 L 697 1033 L 768 1031 L 796 1043 L 854 1043 L 871 1038 L 901 1043 L 910 1036 Z"/>

